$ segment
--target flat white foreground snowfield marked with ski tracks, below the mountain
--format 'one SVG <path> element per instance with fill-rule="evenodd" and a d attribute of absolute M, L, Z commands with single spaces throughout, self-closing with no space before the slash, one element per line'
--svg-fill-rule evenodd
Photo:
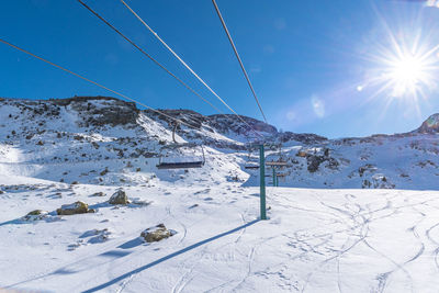
<path fill-rule="evenodd" d="M 13 183 L 3 178 L 2 183 Z M 45 292 L 437 292 L 439 198 L 431 191 L 161 184 L 126 188 L 149 205 L 112 206 L 115 188 L 16 182 L 0 194 L 0 283 Z M 60 193 L 58 196 L 55 194 Z M 81 200 L 93 214 L 25 222 Z M 146 244 L 165 224 L 177 234 Z"/>

